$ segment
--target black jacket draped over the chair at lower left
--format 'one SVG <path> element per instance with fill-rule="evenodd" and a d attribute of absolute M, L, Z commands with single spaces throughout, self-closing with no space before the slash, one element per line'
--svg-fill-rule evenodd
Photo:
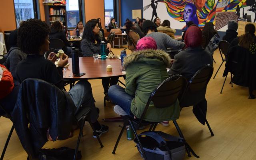
<path fill-rule="evenodd" d="M 68 93 L 53 84 L 36 78 L 22 82 L 12 120 L 30 158 L 37 158 L 38 151 L 47 142 L 48 128 L 54 141 L 57 136 L 58 140 L 69 137 L 75 108 Z"/>

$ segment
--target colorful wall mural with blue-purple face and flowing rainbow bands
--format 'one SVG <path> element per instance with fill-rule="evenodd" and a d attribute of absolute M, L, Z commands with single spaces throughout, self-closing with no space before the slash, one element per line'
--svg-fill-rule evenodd
<path fill-rule="evenodd" d="M 143 0 L 144 18 L 168 19 L 175 29 L 185 28 L 188 21 L 201 28 L 206 22 L 215 24 L 218 12 L 234 12 L 241 19 L 256 22 L 256 0 Z M 218 29 L 225 31 L 226 27 Z"/>

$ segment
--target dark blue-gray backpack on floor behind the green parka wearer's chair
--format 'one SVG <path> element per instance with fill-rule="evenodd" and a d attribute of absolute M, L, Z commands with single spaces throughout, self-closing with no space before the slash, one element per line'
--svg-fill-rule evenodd
<path fill-rule="evenodd" d="M 139 134 L 138 138 L 148 160 L 183 160 L 185 157 L 186 142 L 183 138 L 171 136 L 161 131 L 145 131 Z M 143 157 L 136 138 L 134 142 Z"/>

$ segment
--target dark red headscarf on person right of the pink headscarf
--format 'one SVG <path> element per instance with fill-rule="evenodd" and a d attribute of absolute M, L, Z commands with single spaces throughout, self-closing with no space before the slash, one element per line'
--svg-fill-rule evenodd
<path fill-rule="evenodd" d="M 202 31 L 198 26 L 190 26 L 185 33 L 185 45 L 188 47 L 198 47 L 202 43 Z"/>

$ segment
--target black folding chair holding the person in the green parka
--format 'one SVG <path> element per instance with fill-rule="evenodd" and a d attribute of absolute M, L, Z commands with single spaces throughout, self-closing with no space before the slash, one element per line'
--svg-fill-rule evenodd
<path fill-rule="evenodd" d="M 174 104 L 176 102 L 177 98 L 183 94 L 183 92 L 186 88 L 186 85 L 187 85 L 187 80 L 186 80 L 186 78 L 184 78 L 184 76 L 181 76 L 181 75 L 171 76 L 171 77 L 167 78 L 166 80 L 164 80 L 161 84 L 159 84 L 158 87 L 152 92 L 152 94 L 148 98 L 148 102 L 144 108 L 143 114 L 138 122 L 138 125 L 136 125 L 136 127 L 134 126 L 134 118 L 132 118 L 130 116 L 124 116 L 125 117 L 124 118 L 125 119 L 124 126 L 118 136 L 118 139 L 116 141 L 116 144 L 115 144 L 112 154 L 115 154 L 116 148 L 120 141 L 120 138 L 124 132 L 124 129 L 126 128 L 126 125 L 128 125 L 128 124 L 131 125 L 132 130 L 135 134 L 135 137 L 138 140 L 138 143 L 140 145 L 140 148 L 143 148 L 142 144 L 140 143 L 140 140 L 138 139 L 138 134 L 137 134 L 136 130 L 139 128 L 139 126 L 140 126 L 140 124 L 142 124 L 142 122 L 152 124 L 150 126 L 150 130 L 155 130 L 156 125 L 158 124 L 158 122 L 148 122 L 148 121 L 143 120 L 144 116 L 147 113 L 150 103 L 153 102 L 154 106 L 156 108 L 169 107 L 172 104 Z M 147 157 L 146 157 L 143 149 L 142 149 L 142 154 L 143 154 L 144 160 L 147 160 Z"/>

